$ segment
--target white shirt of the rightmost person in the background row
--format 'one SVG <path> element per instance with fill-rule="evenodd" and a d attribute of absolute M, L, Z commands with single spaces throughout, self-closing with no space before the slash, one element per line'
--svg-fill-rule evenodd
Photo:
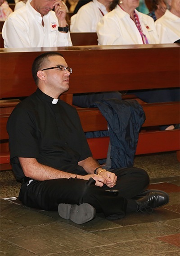
<path fill-rule="evenodd" d="M 174 43 L 180 39 L 180 18 L 166 10 L 155 22 L 160 43 Z"/>

